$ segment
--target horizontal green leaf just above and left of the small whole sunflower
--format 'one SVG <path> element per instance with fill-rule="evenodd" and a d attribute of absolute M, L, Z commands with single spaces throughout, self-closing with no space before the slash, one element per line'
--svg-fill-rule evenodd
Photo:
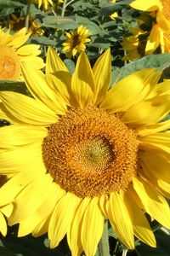
<path fill-rule="evenodd" d="M 42 26 L 58 28 L 60 30 L 76 29 L 78 24 L 75 20 L 68 17 L 46 16 Z"/>

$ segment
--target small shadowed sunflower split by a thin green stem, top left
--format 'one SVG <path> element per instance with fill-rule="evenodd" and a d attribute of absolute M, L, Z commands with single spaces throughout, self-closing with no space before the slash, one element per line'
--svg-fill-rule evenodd
<path fill-rule="evenodd" d="M 12 14 L 11 19 L 9 20 L 10 29 L 19 31 L 25 26 L 25 20 L 25 16 L 17 17 L 16 15 Z M 37 23 L 35 17 L 29 16 L 28 32 L 31 32 L 32 36 L 42 36 L 44 33 L 44 30 L 41 28 L 40 24 Z"/>

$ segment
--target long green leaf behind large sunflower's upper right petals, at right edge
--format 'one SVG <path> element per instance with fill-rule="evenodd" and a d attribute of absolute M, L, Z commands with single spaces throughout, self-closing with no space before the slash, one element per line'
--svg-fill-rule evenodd
<path fill-rule="evenodd" d="M 170 54 L 147 55 L 137 61 L 130 62 L 122 68 L 116 69 L 116 71 L 113 70 L 112 82 L 116 84 L 116 82 L 125 78 L 127 75 L 150 67 L 156 68 L 157 70 L 164 70 L 170 67 Z"/>

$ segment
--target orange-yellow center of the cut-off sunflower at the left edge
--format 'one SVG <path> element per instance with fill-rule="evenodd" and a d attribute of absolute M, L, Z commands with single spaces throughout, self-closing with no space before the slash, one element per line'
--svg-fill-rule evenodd
<path fill-rule="evenodd" d="M 0 80 L 20 79 L 20 59 L 14 49 L 8 46 L 0 48 Z"/>

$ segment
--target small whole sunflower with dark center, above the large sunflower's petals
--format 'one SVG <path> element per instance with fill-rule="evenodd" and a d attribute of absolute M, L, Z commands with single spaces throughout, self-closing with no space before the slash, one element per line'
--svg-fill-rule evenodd
<path fill-rule="evenodd" d="M 90 36 L 89 30 L 86 28 L 86 26 L 78 26 L 77 30 L 71 33 L 66 33 L 66 41 L 63 43 L 63 49 L 62 51 L 67 55 L 68 57 L 75 56 L 78 53 L 81 53 L 86 49 L 86 43 L 90 42 Z"/>

